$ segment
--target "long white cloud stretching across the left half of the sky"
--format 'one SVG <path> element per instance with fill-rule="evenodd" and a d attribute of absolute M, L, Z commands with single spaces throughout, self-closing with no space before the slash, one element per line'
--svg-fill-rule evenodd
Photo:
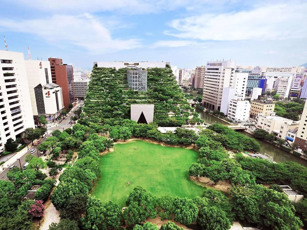
<path fill-rule="evenodd" d="M 140 47 L 137 39 L 115 39 L 110 31 L 90 14 L 79 16 L 54 15 L 44 19 L 14 21 L 2 19 L 0 28 L 31 33 L 51 44 L 74 44 L 92 54 Z"/>

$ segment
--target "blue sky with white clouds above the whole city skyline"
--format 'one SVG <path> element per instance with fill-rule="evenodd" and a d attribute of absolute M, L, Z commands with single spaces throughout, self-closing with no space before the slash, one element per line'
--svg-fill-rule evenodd
<path fill-rule="evenodd" d="M 10 0 L 1 8 L 9 51 L 27 58 L 29 46 L 35 60 L 187 68 L 216 59 L 276 67 L 307 62 L 306 0 Z"/>

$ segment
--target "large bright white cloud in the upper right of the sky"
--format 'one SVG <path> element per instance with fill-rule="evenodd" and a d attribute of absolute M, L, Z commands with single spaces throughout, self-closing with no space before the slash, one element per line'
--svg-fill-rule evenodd
<path fill-rule="evenodd" d="M 257 6 L 252 10 L 175 19 L 164 33 L 200 40 L 276 40 L 307 37 L 307 2 Z"/>

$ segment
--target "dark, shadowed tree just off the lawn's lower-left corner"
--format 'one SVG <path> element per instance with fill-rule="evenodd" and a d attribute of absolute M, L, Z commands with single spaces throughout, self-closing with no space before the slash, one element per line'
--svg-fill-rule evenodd
<path fill-rule="evenodd" d="M 70 220 L 80 220 L 82 214 L 86 212 L 87 194 L 77 194 L 70 197 L 61 211 L 61 218 Z"/>

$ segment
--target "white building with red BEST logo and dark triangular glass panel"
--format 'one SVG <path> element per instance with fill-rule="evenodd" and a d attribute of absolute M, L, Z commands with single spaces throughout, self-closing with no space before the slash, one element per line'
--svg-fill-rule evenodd
<path fill-rule="evenodd" d="M 52 123 L 64 109 L 62 88 L 52 83 L 49 61 L 25 60 L 28 90 L 32 104 L 35 126 L 40 126 L 40 117 Z"/>

